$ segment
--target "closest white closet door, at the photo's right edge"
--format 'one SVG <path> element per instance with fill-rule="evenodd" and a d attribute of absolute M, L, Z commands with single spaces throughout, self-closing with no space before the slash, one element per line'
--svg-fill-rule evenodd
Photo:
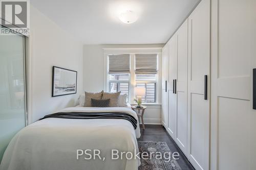
<path fill-rule="evenodd" d="M 256 169 L 255 25 L 256 1 L 212 0 L 211 169 Z"/>

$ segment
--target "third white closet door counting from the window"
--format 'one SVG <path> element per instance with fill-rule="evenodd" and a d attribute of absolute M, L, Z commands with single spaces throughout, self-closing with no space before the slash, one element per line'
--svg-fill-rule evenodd
<path fill-rule="evenodd" d="M 177 125 L 176 143 L 187 153 L 187 20 L 177 32 Z"/>

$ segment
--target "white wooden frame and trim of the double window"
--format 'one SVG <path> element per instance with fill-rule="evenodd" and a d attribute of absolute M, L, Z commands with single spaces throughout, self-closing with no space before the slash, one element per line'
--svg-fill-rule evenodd
<path fill-rule="evenodd" d="M 156 102 L 155 103 L 144 103 L 144 104 L 161 104 L 161 61 L 162 61 L 162 48 L 161 47 L 153 47 L 153 48 L 103 48 L 104 51 L 104 91 L 109 91 L 109 60 L 108 56 L 113 54 L 130 54 L 130 84 L 129 84 L 129 103 L 134 104 L 133 99 L 135 99 L 134 88 L 136 87 L 135 80 L 135 54 L 157 54 L 157 80 L 156 81 L 137 81 L 139 82 L 148 82 L 148 83 L 156 83 Z M 113 81 L 111 81 L 113 82 Z M 120 82 L 120 81 L 119 81 Z"/>

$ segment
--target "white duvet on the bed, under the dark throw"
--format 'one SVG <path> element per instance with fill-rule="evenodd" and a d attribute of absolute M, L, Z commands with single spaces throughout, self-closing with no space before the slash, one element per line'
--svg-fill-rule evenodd
<path fill-rule="evenodd" d="M 71 107 L 61 112 L 125 112 L 129 108 Z M 133 125 L 124 119 L 66 119 L 46 118 L 18 132 L 5 151 L 1 170 L 134 170 L 139 159 L 111 159 L 111 150 L 138 152 L 139 123 Z M 100 159 L 86 160 L 77 150 L 100 150 Z M 88 152 L 90 153 L 90 152 Z M 103 161 L 103 157 L 105 160 Z M 97 157 L 98 158 L 98 157 Z"/>

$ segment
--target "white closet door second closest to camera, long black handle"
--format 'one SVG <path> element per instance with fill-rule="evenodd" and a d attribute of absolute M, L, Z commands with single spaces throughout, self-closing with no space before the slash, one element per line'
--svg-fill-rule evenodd
<path fill-rule="evenodd" d="M 188 17 L 188 159 L 209 169 L 210 0 L 202 0 Z"/>

